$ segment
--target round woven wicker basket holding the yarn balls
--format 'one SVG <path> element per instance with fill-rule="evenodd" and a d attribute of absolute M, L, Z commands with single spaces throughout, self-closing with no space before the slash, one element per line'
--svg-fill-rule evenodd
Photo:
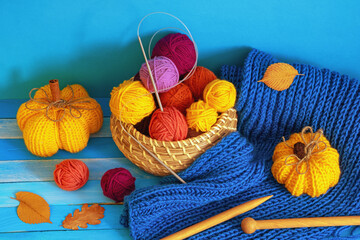
<path fill-rule="evenodd" d="M 152 151 L 168 167 L 175 172 L 180 172 L 189 167 L 200 154 L 214 146 L 223 137 L 236 131 L 237 115 L 236 110 L 231 108 L 220 115 L 210 131 L 197 137 L 174 142 L 158 141 L 141 134 L 131 124 L 122 123 L 122 125 L 128 133 Z M 110 129 L 120 151 L 136 166 L 156 176 L 170 174 L 164 166 L 123 130 L 120 121 L 114 115 L 111 115 Z"/>

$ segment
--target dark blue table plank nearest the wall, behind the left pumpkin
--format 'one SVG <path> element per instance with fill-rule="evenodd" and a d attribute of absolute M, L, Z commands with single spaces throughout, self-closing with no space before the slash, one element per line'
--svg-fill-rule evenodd
<path fill-rule="evenodd" d="M 110 93 L 109 93 L 110 94 Z M 20 105 L 29 99 L 1 99 L 0 100 L 0 118 L 16 118 L 17 110 Z M 104 117 L 110 117 L 110 98 L 95 98 L 103 110 Z"/>

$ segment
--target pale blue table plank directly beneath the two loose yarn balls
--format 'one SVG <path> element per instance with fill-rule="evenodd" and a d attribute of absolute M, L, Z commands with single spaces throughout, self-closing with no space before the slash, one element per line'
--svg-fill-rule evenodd
<path fill-rule="evenodd" d="M 160 178 L 136 179 L 137 189 L 159 184 Z M 29 191 L 42 196 L 51 205 L 83 204 L 83 203 L 113 203 L 103 195 L 100 180 L 90 180 L 84 187 L 76 191 L 60 189 L 55 182 L 21 182 L 0 184 L 0 208 L 15 207 L 18 201 L 11 199 L 19 191 Z"/>

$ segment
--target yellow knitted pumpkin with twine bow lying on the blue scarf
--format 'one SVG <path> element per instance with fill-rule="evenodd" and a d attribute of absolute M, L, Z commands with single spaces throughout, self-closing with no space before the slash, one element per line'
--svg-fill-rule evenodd
<path fill-rule="evenodd" d="M 301 133 L 283 140 L 275 148 L 271 171 L 292 195 L 319 197 L 338 183 L 339 153 L 321 129 L 313 133 L 311 127 L 305 127 Z"/>

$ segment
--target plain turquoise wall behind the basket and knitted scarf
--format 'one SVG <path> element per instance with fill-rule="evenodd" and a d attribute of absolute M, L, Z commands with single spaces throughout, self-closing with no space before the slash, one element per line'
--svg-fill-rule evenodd
<path fill-rule="evenodd" d="M 153 11 L 182 19 L 199 64 L 215 73 L 259 48 L 360 79 L 360 1 L 0 0 L 0 98 L 27 98 L 53 78 L 109 97 L 142 64 L 137 24 Z M 163 16 L 147 20 L 144 41 L 166 26 L 178 25 Z"/>

